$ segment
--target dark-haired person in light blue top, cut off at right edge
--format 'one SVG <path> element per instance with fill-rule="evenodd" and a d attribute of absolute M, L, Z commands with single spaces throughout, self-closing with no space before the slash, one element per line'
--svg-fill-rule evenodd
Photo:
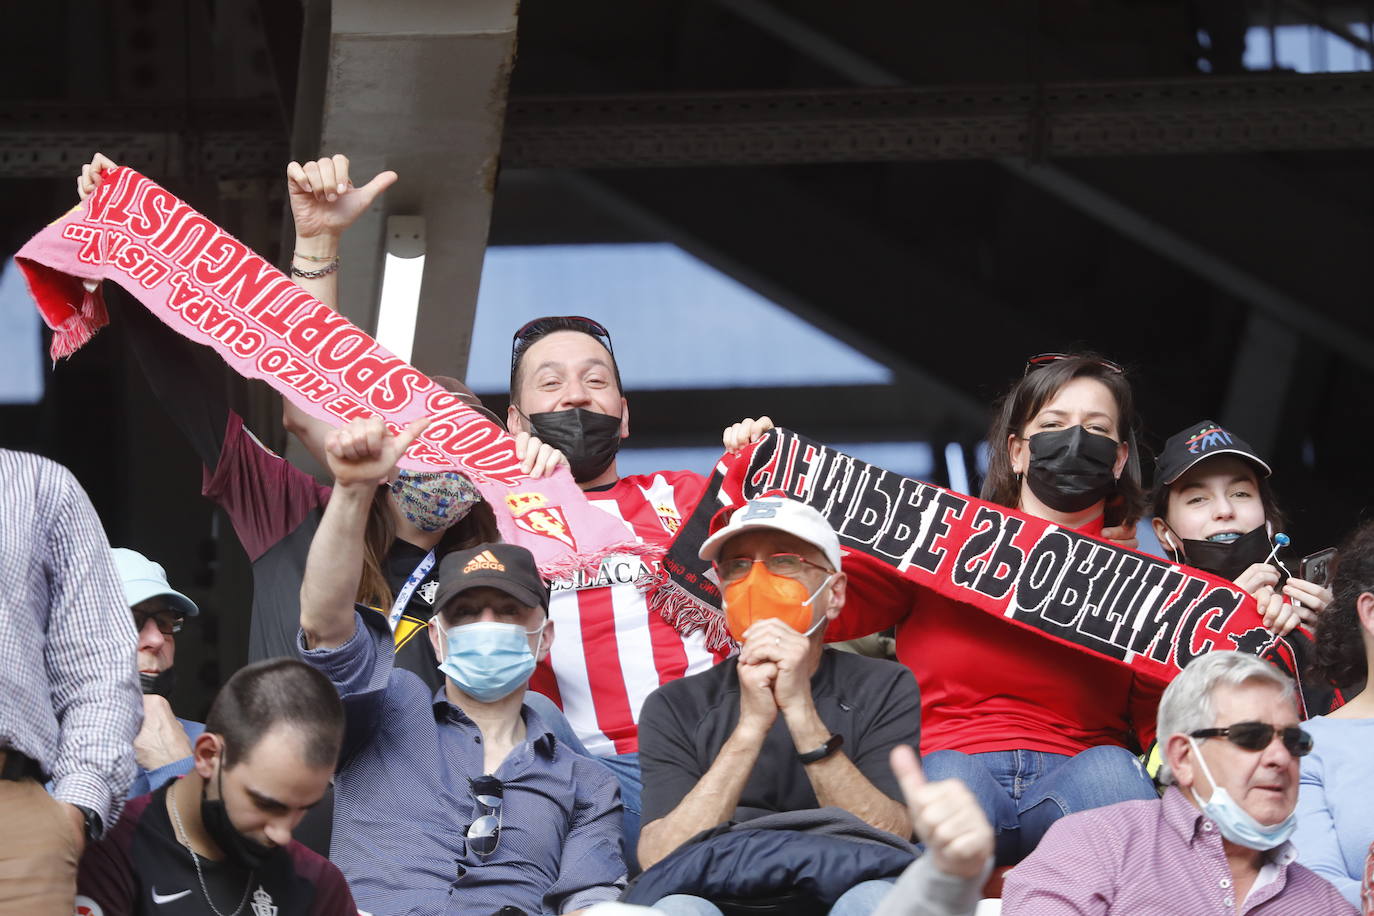
<path fill-rule="evenodd" d="M 1298 860 L 1360 905 L 1366 853 L 1374 842 L 1374 522 L 1358 527 L 1336 555 L 1334 602 L 1316 618 L 1316 674 L 1355 695 L 1307 721 L 1315 742 L 1303 758 L 1293 845 Z"/>

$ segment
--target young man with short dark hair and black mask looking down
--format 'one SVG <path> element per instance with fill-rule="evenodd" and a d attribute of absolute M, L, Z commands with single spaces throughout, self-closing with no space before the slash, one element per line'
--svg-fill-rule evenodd
<path fill-rule="evenodd" d="M 192 770 L 125 808 L 87 849 L 77 916 L 354 916 L 339 869 L 291 839 L 324 795 L 344 737 L 334 687 L 294 659 L 220 691 Z"/>

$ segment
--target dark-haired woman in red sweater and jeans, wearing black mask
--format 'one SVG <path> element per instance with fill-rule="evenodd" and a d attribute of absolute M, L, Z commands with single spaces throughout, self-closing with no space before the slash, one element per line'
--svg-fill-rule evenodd
<path fill-rule="evenodd" d="M 982 499 L 1091 536 L 1109 523 L 1129 531 L 1145 503 L 1135 430 L 1121 367 L 1091 353 L 1036 357 L 998 405 Z M 827 636 L 896 625 L 897 658 L 921 685 L 926 775 L 973 790 L 999 865 L 1065 814 L 1157 798 L 1136 755 L 1153 740 L 1158 692 L 1129 669 L 914 584 L 885 585 L 901 592 L 846 606 Z"/>

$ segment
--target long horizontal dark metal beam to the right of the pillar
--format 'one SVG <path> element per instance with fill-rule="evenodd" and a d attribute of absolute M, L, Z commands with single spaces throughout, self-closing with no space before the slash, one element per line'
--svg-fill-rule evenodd
<path fill-rule="evenodd" d="M 510 168 L 1374 147 L 1374 74 L 513 99 Z"/>

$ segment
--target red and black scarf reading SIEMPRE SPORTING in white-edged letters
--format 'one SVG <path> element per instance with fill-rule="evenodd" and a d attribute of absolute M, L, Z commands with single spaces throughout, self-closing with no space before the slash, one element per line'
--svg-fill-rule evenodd
<path fill-rule="evenodd" d="M 728 644 L 720 591 L 697 549 L 719 509 L 775 490 L 826 516 L 846 569 L 903 575 L 1002 618 L 1028 641 L 1057 640 L 1158 685 L 1213 650 L 1261 655 L 1279 667 L 1293 656 L 1232 582 L 897 477 L 789 430 L 721 457 L 664 558 L 650 607 L 679 629 L 705 629 L 712 648 Z M 851 578 L 855 606 L 866 600 L 855 592 L 861 578 Z"/>

